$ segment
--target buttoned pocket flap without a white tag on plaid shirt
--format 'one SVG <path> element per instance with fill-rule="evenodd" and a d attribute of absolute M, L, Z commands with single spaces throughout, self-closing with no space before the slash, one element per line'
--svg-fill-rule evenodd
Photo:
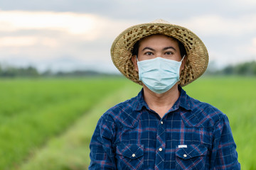
<path fill-rule="evenodd" d="M 124 157 L 129 157 L 130 159 L 137 159 L 139 157 L 142 157 L 144 154 L 143 146 L 137 144 L 119 144 L 117 145 L 116 153 Z"/>

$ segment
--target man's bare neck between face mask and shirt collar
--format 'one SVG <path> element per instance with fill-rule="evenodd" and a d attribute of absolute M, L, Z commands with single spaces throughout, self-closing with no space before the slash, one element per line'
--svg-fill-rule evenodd
<path fill-rule="evenodd" d="M 162 118 L 169 109 L 174 106 L 178 100 L 180 92 L 178 91 L 178 84 L 175 84 L 169 91 L 164 94 L 156 94 L 149 90 L 146 86 L 144 89 L 144 100 L 151 110 L 155 111 Z"/>

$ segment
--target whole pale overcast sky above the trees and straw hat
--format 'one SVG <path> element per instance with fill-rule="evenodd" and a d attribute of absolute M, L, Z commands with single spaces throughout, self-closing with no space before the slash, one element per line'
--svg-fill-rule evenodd
<path fill-rule="evenodd" d="M 216 67 L 256 60 L 255 0 L 0 0 L 0 63 L 117 72 L 114 38 L 162 18 L 198 35 Z"/>

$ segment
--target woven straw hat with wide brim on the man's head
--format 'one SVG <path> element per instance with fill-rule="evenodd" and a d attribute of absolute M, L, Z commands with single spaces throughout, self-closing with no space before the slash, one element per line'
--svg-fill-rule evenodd
<path fill-rule="evenodd" d="M 132 48 L 135 42 L 153 34 L 174 37 L 185 46 L 187 59 L 178 84 L 186 86 L 201 77 L 206 71 L 208 52 L 202 40 L 191 30 L 160 19 L 127 28 L 114 40 L 111 47 L 112 61 L 125 77 L 142 85 L 142 81 L 139 81 L 139 74 L 135 71 L 132 62 Z"/>

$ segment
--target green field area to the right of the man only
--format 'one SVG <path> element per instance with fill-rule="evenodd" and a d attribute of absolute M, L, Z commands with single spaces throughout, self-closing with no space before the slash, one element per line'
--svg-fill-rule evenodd
<path fill-rule="evenodd" d="M 256 77 L 204 77 L 186 86 L 193 98 L 210 103 L 230 120 L 242 169 L 256 169 Z"/>

